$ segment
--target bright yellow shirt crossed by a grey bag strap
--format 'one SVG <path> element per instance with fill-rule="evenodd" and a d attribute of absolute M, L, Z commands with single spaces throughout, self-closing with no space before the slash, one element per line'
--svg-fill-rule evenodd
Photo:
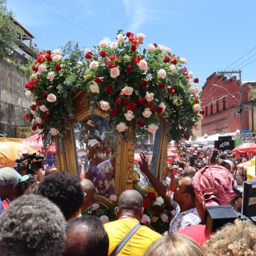
<path fill-rule="evenodd" d="M 119 243 L 124 239 L 124 237 L 129 233 L 129 230 L 137 225 L 137 220 L 132 218 L 123 218 L 120 220 L 112 221 L 104 225 L 107 235 L 110 239 L 109 255 L 110 253 L 119 245 Z M 151 245 L 154 240 L 161 238 L 159 233 L 142 226 L 137 230 L 137 232 L 132 236 L 132 238 L 127 242 L 126 245 L 119 252 L 119 256 L 140 256 L 144 255 L 144 251 L 149 245 Z"/>

